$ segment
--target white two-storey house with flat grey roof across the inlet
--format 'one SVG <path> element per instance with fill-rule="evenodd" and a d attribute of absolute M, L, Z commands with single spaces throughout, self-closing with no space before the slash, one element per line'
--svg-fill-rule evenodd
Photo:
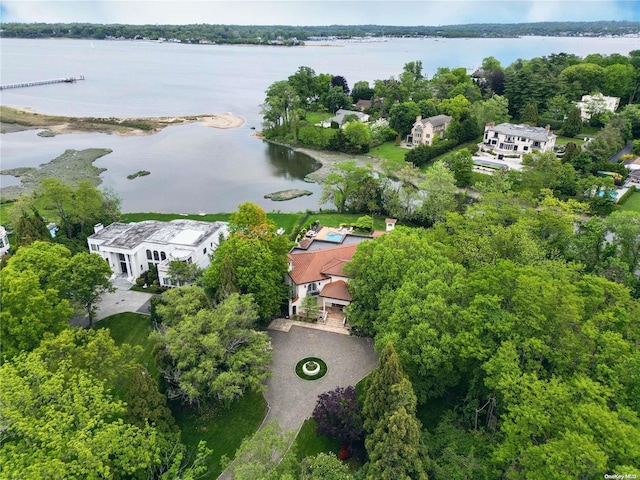
<path fill-rule="evenodd" d="M 522 157 L 534 150 L 552 152 L 556 138 L 549 125 L 542 128 L 511 123 L 495 125 L 490 122 L 485 125 L 483 143 L 478 146 L 496 153 L 498 159 L 505 155 Z"/>

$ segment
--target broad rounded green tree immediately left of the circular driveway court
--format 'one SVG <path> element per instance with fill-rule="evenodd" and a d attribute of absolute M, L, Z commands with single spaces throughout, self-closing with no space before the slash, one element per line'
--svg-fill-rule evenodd
<path fill-rule="evenodd" d="M 202 405 L 233 400 L 247 389 L 262 391 L 271 346 L 266 333 L 255 330 L 257 318 L 252 297 L 233 294 L 213 309 L 162 325 L 153 335 L 168 397 Z"/>

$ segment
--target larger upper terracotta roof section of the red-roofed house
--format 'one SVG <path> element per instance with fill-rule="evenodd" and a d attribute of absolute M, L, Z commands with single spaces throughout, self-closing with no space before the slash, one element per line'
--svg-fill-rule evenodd
<path fill-rule="evenodd" d="M 344 276 L 342 267 L 351 261 L 357 244 L 341 245 L 313 252 L 290 253 L 293 269 L 289 276 L 296 284 L 325 280 L 329 275 Z"/>

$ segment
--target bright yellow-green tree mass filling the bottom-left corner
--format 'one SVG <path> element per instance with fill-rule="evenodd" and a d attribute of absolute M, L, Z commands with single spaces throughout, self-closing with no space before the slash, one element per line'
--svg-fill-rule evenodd
<path fill-rule="evenodd" d="M 8 478 L 140 478 L 162 468 L 169 452 L 159 432 L 125 422 L 126 406 L 112 393 L 114 377 L 99 372 L 128 364 L 112 355 L 113 341 L 99 350 L 84 341 L 105 335 L 67 330 L 60 342 L 50 338 L 0 367 L 0 455 Z M 57 348 L 68 342 L 73 347 Z"/>

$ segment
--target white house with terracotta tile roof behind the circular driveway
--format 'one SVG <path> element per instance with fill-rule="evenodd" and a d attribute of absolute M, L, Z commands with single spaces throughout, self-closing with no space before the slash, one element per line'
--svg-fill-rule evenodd
<path fill-rule="evenodd" d="M 318 298 L 324 311 L 341 310 L 351 303 L 349 279 L 343 267 L 351 261 L 357 244 L 338 245 L 310 252 L 289 253 L 289 274 L 286 282 L 292 289 L 289 315 L 299 314 L 302 301 L 308 295 Z"/>

